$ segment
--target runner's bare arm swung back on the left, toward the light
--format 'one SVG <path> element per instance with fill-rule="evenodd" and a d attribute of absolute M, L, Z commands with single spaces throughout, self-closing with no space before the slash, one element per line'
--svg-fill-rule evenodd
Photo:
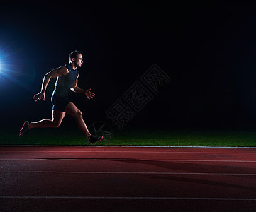
<path fill-rule="evenodd" d="M 48 86 L 48 83 L 50 82 L 50 79 L 62 75 L 67 75 L 67 73 L 69 73 L 69 70 L 64 66 L 59 67 L 57 69 L 53 69 L 52 71 L 46 73 L 43 77 L 41 91 L 33 96 L 33 100 L 35 100 L 35 102 L 38 102 L 41 99 L 45 100 L 45 91 Z"/>

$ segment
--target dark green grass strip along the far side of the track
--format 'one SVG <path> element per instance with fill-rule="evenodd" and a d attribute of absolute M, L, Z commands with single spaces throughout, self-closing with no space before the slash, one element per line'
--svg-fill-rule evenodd
<path fill-rule="evenodd" d="M 33 129 L 22 138 L 17 130 L 0 131 L 0 145 L 88 145 L 78 129 Z M 256 146 L 256 131 L 114 131 L 102 146 Z"/>

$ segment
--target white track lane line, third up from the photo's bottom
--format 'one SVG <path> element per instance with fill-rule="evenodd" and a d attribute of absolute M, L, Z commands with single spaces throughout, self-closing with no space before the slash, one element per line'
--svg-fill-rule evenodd
<path fill-rule="evenodd" d="M 177 160 L 177 159 L 121 159 L 121 158 L 0 158 L 0 160 L 108 160 L 108 161 L 165 161 L 165 162 L 227 162 L 227 163 L 256 163 L 256 160 Z"/>

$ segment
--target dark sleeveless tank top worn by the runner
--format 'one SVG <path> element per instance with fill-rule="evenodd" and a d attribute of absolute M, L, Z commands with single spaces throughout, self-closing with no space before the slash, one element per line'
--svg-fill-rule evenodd
<path fill-rule="evenodd" d="M 65 76 L 57 77 L 55 89 L 52 95 L 67 97 L 70 93 L 70 88 L 72 88 L 74 81 L 77 80 L 79 71 L 77 71 L 77 69 L 74 70 L 71 64 L 66 64 L 65 67 L 69 69 L 69 73 L 67 73 Z"/>

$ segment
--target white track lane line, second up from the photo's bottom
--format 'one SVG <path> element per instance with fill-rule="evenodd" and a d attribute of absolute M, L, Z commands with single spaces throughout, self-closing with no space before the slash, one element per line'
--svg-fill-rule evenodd
<path fill-rule="evenodd" d="M 72 171 L 4 171 L 1 173 L 25 174 L 88 174 L 88 175 L 228 175 L 256 176 L 256 173 L 207 173 L 207 172 L 72 172 Z M 1 174 L 0 173 L 0 174 Z"/>

